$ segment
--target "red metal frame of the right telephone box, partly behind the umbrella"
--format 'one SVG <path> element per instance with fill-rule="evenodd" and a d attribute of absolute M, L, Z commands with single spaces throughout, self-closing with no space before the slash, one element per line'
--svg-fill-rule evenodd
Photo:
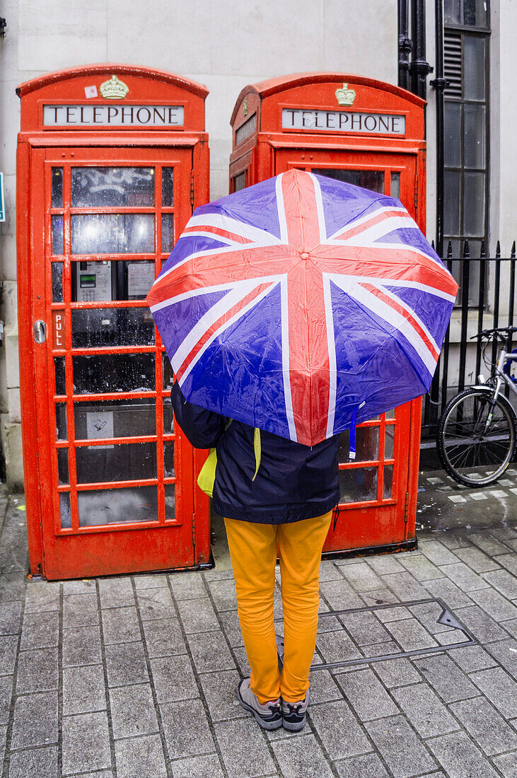
<path fill-rule="evenodd" d="M 340 107 L 335 92 L 343 83 L 356 93 L 353 106 Z M 424 100 L 397 86 L 344 73 L 302 73 L 246 86 L 232 114 L 233 150 L 230 191 L 239 173 L 246 185 L 257 184 L 293 167 L 302 170 L 334 168 L 384 170 L 386 194 L 390 172 L 400 173 L 400 199 L 425 230 Z M 406 117 L 403 135 L 344 133 L 282 128 L 282 108 L 347 110 Z M 236 145 L 236 130 L 257 114 L 257 130 Z M 375 468 L 375 499 L 341 503 L 330 527 L 324 552 L 407 548 L 414 545 L 417 503 L 421 400 L 360 425 L 379 429 L 379 452 L 374 460 L 340 462 L 340 472 Z M 393 456 L 385 457 L 386 428 L 393 428 Z M 383 492 L 384 471 L 393 467 L 393 485 Z M 366 471 L 365 471 L 366 472 Z"/>

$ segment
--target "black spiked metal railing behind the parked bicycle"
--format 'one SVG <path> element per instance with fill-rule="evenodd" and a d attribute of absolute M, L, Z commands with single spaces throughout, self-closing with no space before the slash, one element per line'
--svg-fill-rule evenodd
<path fill-rule="evenodd" d="M 463 244 L 463 256 L 452 256 L 449 240 L 445 265 L 459 284 L 456 305 L 445 335 L 431 389 L 424 398 L 422 437 L 434 436 L 438 419 L 445 405 L 457 392 L 477 383 L 481 370 L 481 343 L 471 341 L 483 328 L 509 327 L 515 324 L 515 240 L 509 257 L 501 257 L 497 244 L 494 257 L 487 257 L 484 242 L 480 256 L 470 257 L 468 240 Z M 511 341 L 507 349 L 511 350 Z M 497 343 L 492 346 L 492 360 L 497 356 Z"/>

